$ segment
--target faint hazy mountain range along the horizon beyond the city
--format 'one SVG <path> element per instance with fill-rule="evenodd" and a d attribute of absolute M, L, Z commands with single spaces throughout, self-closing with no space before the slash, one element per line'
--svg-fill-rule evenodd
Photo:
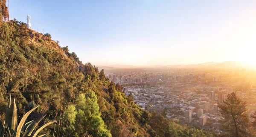
<path fill-rule="evenodd" d="M 114 70 L 114 69 L 124 69 L 124 68 L 158 68 L 158 69 L 168 69 L 168 68 L 241 68 L 249 66 L 246 63 L 236 62 L 236 61 L 225 61 L 225 62 L 207 62 L 200 64 L 179 64 L 179 65 L 154 65 L 154 66 L 133 66 L 133 65 L 112 65 L 112 66 L 99 66 L 99 69 Z"/>

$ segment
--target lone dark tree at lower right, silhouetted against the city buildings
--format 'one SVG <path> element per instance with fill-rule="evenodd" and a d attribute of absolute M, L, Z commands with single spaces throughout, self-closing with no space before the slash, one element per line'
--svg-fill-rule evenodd
<path fill-rule="evenodd" d="M 246 102 L 237 97 L 236 92 L 227 95 L 227 100 L 219 105 L 221 115 L 225 117 L 224 130 L 232 137 L 247 136 L 248 115 Z"/>

